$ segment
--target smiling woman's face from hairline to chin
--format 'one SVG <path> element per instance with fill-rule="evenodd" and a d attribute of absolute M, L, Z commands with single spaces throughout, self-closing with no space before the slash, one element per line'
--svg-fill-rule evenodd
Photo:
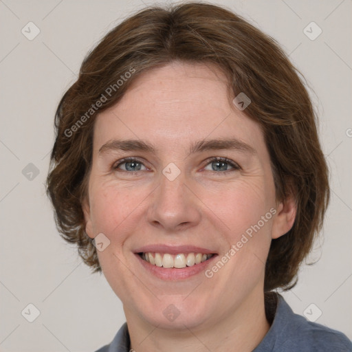
<path fill-rule="evenodd" d="M 221 72 L 188 63 L 145 72 L 98 115 L 84 210 L 127 319 L 180 329 L 261 300 L 270 241 L 293 222 L 259 124 Z"/>

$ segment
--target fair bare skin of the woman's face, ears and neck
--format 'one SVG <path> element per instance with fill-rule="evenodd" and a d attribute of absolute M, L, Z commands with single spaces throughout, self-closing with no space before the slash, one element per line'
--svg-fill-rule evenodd
<path fill-rule="evenodd" d="M 98 257 L 104 276 L 122 300 L 136 351 L 252 351 L 269 325 L 263 281 L 272 238 L 292 227 L 294 202 L 276 201 L 270 156 L 259 124 L 230 107 L 225 76 L 203 64 L 173 63 L 137 78 L 122 100 L 101 113 L 94 130 L 89 200 L 83 204 L 91 238 L 104 233 L 111 244 Z M 236 137 L 256 153 L 235 150 L 188 155 L 191 142 Z M 113 151 L 99 155 L 113 139 L 142 139 L 156 154 Z M 137 157 L 138 171 L 118 160 Z M 226 157 L 241 170 L 213 170 L 210 157 Z M 169 181 L 173 162 L 181 174 Z M 196 245 L 221 255 L 250 225 L 276 208 L 272 219 L 212 278 L 198 274 L 166 282 L 142 271 L 133 250 L 142 245 Z M 179 317 L 162 311 L 173 304 Z M 155 326 L 153 338 L 138 346 Z M 199 340 L 189 332 L 192 330 Z M 175 340 L 177 338 L 177 340 Z"/>

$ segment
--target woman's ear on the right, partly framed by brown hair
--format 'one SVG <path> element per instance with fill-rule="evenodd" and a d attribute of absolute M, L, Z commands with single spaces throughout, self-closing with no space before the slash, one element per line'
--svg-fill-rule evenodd
<path fill-rule="evenodd" d="M 278 237 L 291 230 L 296 219 L 296 212 L 296 199 L 293 195 L 289 195 L 285 200 L 278 203 L 272 226 L 272 239 L 278 239 Z"/>

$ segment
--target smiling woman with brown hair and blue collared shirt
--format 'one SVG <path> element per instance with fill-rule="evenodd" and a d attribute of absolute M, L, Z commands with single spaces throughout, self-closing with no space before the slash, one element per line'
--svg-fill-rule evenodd
<path fill-rule="evenodd" d="M 56 112 L 58 229 L 122 300 L 112 351 L 352 351 L 292 312 L 328 171 L 276 43 L 219 6 L 147 8 L 85 58 Z"/>

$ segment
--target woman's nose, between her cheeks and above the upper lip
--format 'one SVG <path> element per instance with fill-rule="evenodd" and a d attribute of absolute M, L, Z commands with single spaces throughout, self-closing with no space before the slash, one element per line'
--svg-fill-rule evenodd
<path fill-rule="evenodd" d="M 189 183 L 188 183 L 189 184 Z M 148 222 L 163 232 L 179 232 L 199 224 L 201 207 L 194 190 L 181 173 L 170 181 L 160 175 L 148 208 Z"/>

